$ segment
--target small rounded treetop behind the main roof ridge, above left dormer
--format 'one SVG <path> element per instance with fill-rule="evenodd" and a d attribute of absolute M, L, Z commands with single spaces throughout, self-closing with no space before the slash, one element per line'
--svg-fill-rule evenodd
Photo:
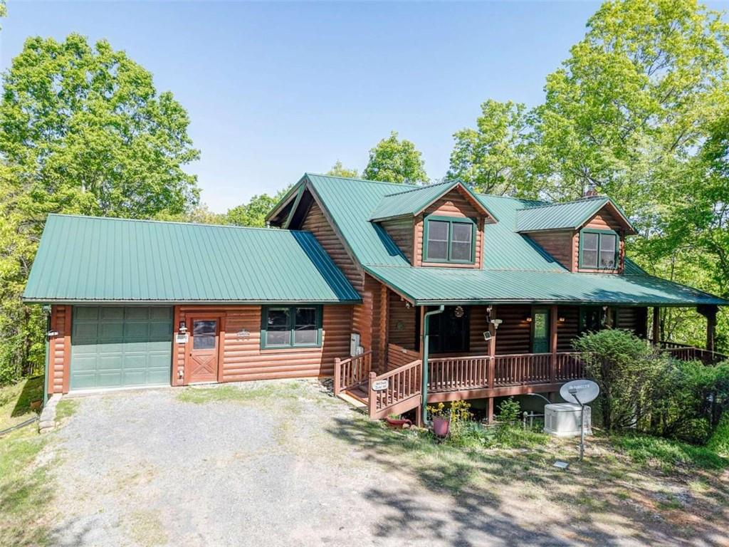
<path fill-rule="evenodd" d="M 364 179 L 411 185 L 428 182 L 421 153 L 407 139 L 399 140 L 397 131 L 392 131 L 389 137 L 370 150 L 370 160 L 362 176 Z"/>

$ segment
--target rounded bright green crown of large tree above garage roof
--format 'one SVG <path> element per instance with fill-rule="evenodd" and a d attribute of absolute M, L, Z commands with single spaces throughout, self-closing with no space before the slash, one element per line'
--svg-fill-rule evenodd
<path fill-rule="evenodd" d="M 0 153 L 28 190 L 81 212 L 153 217 L 198 201 L 187 112 L 124 52 L 31 38 L 4 74 Z"/>

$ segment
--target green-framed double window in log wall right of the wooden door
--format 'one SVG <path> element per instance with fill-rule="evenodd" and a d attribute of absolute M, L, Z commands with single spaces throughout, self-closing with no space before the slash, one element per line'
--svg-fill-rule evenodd
<path fill-rule="evenodd" d="M 321 306 L 265 306 L 261 347 L 321 346 Z"/>

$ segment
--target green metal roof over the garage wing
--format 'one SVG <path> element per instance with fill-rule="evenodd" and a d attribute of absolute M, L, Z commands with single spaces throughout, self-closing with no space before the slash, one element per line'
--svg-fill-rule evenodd
<path fill-rule="evenodd" d="M 359 302 L 311 233 L 51 214 L 31 302 Z"/>

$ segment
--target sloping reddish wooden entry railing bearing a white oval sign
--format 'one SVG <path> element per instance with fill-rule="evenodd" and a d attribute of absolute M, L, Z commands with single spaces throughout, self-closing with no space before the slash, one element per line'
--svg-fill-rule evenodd
<path fill-rule="evenodd" d="M 379 376 L 370 372 L 370 395 L 367 400 L 370 418 L 399 414 L 420 404 L 422 365 L 423 362 L 418 359 Z M 375 390 L 378 383 L 387 385 L 384 389 Z"/>

